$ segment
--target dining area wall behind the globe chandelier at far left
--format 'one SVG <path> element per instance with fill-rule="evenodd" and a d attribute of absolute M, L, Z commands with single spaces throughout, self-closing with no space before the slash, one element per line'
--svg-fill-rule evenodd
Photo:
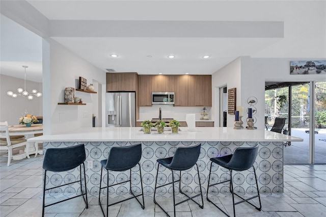
<path fill-rule="evenodd" d="M 17 98 L 12 98 L 7 95 L 8 91 L 17 93 L 17 88 L 19 87 L 24 88 L 24 79 L 0 74 L 1 122 L 8 121 L 9 125 L 18 125 L 18 119 L 25 114 L 25 111 L 35 116 L 43 116 L 43 97 L 34 97 L 33 100 L 29 100 L 26 97 L 18 96 Z M 31 92 L 33 89 L 42 93 L 42 84 L 26 80 L 26 91 Z"/>

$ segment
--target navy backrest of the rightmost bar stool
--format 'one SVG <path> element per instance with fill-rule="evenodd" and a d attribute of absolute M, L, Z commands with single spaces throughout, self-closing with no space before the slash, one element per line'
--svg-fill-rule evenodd
<path fill-rule="evenodd" d="M 230 161 L 226 165 L 228 168 L 236 171 L 248 170 L 256 160 L 258 147 L 238 147 L 235 149 Z"/>

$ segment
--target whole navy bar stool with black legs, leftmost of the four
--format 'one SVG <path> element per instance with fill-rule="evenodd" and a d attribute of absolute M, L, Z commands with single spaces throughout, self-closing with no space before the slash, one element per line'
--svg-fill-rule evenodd
<path fill-rule="evenodd" d="M 87 188 L 86 188 L 86 175 L 85 175 L 85 164 L 84 161 L 86 159 L 86 154 L 85 154 L 85 146 L 84 144 L 79 144 L 76 146 L 68 147 L 68 148 L 49 148 L 46 150 L 45 155 L 44 155 L 44 161 L 43 161 L 43 169 L 44 169 L 44 182 L 43 182 L 43 207 L 42 207 L 42 216 L 44 216 L 44 208 L 47 206 L 51 206 L 57 203 L 61 203 L 79 196 L 83 196 L 83 199 L 86 203 L 86 208 L 88 208 L 88 201 L 87 201 Z M 84 169 L 84 181 L 85 181 L 85 193 L 83 193 L 83 188 L 82 188 L 82 165 Z M 80 171 L 80 180 L 70 182 L 67 184 L 63 184 L 60 186 L 56 187 L 51 187 L 51 188 L 46 188 L 46 172 L 51 171 L 51 172 L 64 172 L 68 170 L 72 170 L 76 167 L 79 166 L 79 171 Z M 65 186 L 68 184 L 80 182 L 80 191 L 82 194 L 74 196 L 72 198 L 68 198 L 56 203 L 51 203 L 45 205 L 45 191 Z M 84 197 L 86 196 L 86 199 Z"/>

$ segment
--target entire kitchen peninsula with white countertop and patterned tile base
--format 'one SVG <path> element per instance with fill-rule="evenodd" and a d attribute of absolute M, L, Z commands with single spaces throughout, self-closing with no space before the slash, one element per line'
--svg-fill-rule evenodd
<path fill-rule="evenodd" d="M 86 148 L 86 175 L 87 189 L 90 197 L 97 197 L 99 192 L 100 180 L 100 160 L 106 159 L 110 148 L 113 146 L 126 146 L 142 143 L 142 159 L 140 161 L 144 194 L 152 196 L 154 193 L 154 177 L 156 173 L 156 159 L 165 158 L 174 155 L 174 151 L 179 146 L 192 146 L 197 143 L 202 144 L 201 153 L 198 159 L 200 170 L 200 180 L 202 189 L 206 192 L 207 179 L 209 174 L 209 158 L 218 155 L 226 155 L 234 152 L 235 148 L 240 146 L 255 146 L 259 144 L 259 152 L 254 164 L 257 168 L 257 178 L 259 191 L 265 194 L 283 192 L 283 142 L 285 141 L 303 141 L 301 138 L 291 137 L 289 135 L 266 131 L 266 130 L 236 130 L 232 127 L 197 127 L 197 131 L 187 131 L 187 127 L 180 127 L 178 134 L 172 134 L 171 131 L 165 131 L 164 134 L 155 133 L 144 134 L 141 127 L 82 127 L 62 134 L 42 135 L 41 137 L 31 138 L 30 142 L 43 142 L 43 152 L 48 148 L 70 147 L 80 143 L 85 144 Z M 89 166 L 89 167 L 88 167 Z M 159 169 L 160 184 L 171 181 L 171 174 L 164 168 Z M 188 186 L 187 191 L 197 192 L 198 176 L 194 171 L 184 173 L 181 177 L 182 185 Z M 228 178 L 229 173 L 216 167 L 211 178 L 221 180 Z M 48 174 L 50 184 L 60 185 L 65 179 L 73 179 L 79 175 L 77 169 L 67 173 Z M 128 172 L 110 173 L 109 181 L 123 181 L 129 176 Z M 251 193 L 257 191 L 254 173 L 252 170 L 236 172 L 234 176 L 237 181 L 234 182 L 235 190 L 241 193 Z M 61 181 L 58 181 L 61 180 Z M 104 178 L 106 180 L 106 178 Z M 140 183 L 140 177 L 135 178 L 134 183 Z M 140 184 L 139 186 L 140 187 Z M 137 188 L 137 187 L 136 187 Z M 140 188 L 139 188 L 140 189 Z M 212 188 L 213 189 L 213 188 Z M 71 189 L 61 189 L 65 193 Z M 74 192 L 77 188 L 74 189 Z M 227 194 L 228 185 L 213 190 L 212 194 Z M 128 195 L 128 189 L 124 185 L 114 186 L 110 190 L 112 194 L 119 196 Z M 110 193 L 110 194 L 111 194 Z M 161 195 L 169 195 L 170 189 L 163 188 Z M 57 194 L 49 194 L 49 197 L 60 197 L 60 191 Z"/>

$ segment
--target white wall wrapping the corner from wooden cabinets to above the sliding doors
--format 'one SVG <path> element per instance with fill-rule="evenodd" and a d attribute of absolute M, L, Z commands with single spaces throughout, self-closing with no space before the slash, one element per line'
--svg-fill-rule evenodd
<path fill-rule="evenodd" d="M 257 98 L 255 126 L 264 128 L 265 116 L 265 81 L 269 82 L 311 82 L 326 81 L 325 74 L 291 75 L 290 61 L 297 60 L 322 60 L 321 58 L 250 58 L 239 57 L 221 70 L 212 75 L 212 103 L 214 108 L 212 116 L 215 125 L 219 123 L 219 87 L 224 85 L 237 88 L 237 106 L 243 106 L 243 126 L 247 126 L 246 116 L 249 107 L 247 100 L 254 96 Z M 217 92 L 218 93 L 218 92 Z M 215 115 L 216 114 L 216 115 Z M 234 115 L 228 115 L 227 126 L 234 125 Z"/>

